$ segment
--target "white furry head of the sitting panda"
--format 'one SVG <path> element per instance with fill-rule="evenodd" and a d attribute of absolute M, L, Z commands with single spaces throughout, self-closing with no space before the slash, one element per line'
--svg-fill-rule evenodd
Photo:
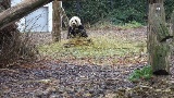
<path fill-rule="evenodd" d="M 73 16 L 73 17 L 70 20 L 69 25 L 70 25 L 71 27 L 77 27 L 77 26 L 82 25 L 80 19 L 77 17 L 77 16 Z"/>

